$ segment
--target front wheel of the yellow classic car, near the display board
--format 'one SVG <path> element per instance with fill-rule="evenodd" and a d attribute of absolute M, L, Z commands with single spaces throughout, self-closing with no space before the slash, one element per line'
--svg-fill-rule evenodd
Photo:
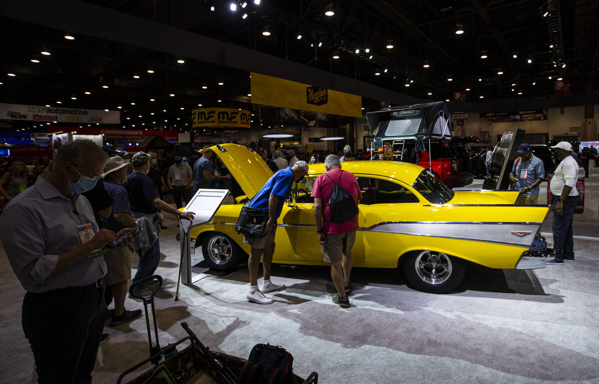
<path fill-rule="evenodd" d="M 231 237 L 220 232 L 209 232 L 202 241 L 202 255 L 216 271 L 235 270 L 241 261 L 241 248 Z"/>

